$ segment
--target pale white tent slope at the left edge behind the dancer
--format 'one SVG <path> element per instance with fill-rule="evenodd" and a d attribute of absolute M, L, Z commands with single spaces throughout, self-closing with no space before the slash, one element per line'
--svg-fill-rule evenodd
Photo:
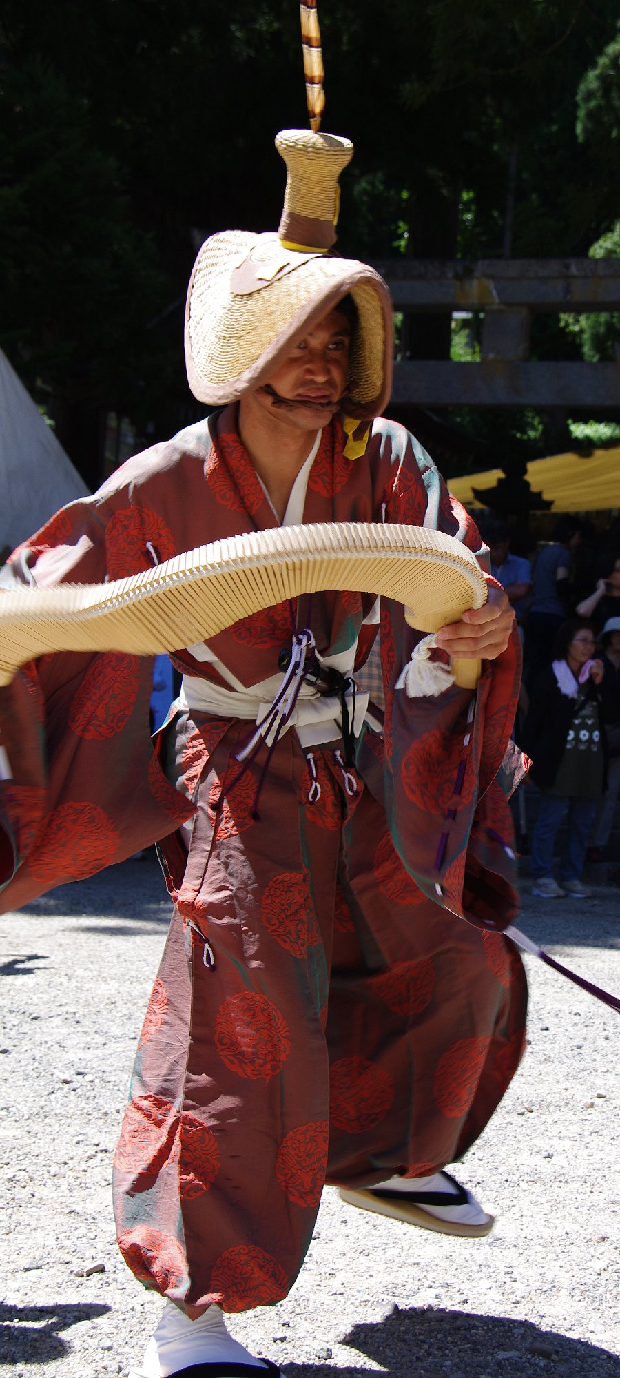
<path fill-rule="evenodd" d="M 0 551 L 88 492 L 0 350 Z"/>

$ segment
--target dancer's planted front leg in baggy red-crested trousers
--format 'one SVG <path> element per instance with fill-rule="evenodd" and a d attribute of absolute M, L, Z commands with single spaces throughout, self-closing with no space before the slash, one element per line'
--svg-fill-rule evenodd
<path fill-rule="evenodd" d="M 176 914 L 116 1155 L 124 1257 L 190 1317 L 287 1295 L 328 1146 L 322 925 L 327 915 L 329 944 L 340 823 L 302 841 L 306 762 L 287 739 L 260 821 L 251 774 L 215 808 L 230 750 L 215 750 L 201 788 L 178 901 L 185 933 Z M 204 1360 L 214 1344 L 219 1360 L 218 1337 L 201 1337 Z"/>

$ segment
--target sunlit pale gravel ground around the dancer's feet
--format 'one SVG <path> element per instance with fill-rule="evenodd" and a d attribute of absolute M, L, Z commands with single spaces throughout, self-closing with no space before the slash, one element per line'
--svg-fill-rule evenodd
<path fill-rule="evenodd" d="M 525 883 L 529 890 L 529 885 Z M 620 893 L 524 896 L 521 925 L 620 991 Z M 168 921 L 154 854 L 0 919 L 0 1363 L 14 1378 L 127 1374 L 160 1302 L 114 1246 L 110 1171 Z M 287 1378 L 620 1375 L 617 1014 L 529 960 L 530 1047 L 457 1169 L 497 1206 L 486 1240 L 324 1193 L 287 1301 L 231 1320 Z"/>

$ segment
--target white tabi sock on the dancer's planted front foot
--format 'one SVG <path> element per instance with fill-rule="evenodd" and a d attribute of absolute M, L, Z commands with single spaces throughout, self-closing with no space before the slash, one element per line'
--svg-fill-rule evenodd
<path fill-rule="evenodd" d="M 219 1306 L 209 1306 L 197 1320 L 165 1301 L 160 1323 L 149 1339 L 142 1366 L 132 1378 L 169 1378 L 190 1364 L 255 1364 L 263 1368 L 244 1345 L 226 1330 Z"/>

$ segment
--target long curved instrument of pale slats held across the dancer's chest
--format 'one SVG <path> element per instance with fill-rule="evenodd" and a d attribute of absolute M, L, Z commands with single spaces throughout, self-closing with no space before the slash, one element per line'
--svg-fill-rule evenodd
<path fill-rule="evenodd" d="M 200 546 L 128 579 L 0 593 L 0 683 L 50 652 L 179 650 L 263 608 L 324 590 L 394 598 L 423 633 L 486 599 L 474 555 L 442 532 L 376 522 L 271 528 Z M 453 674 L 471 688 L 479 663 L 455 660 Z"/>

